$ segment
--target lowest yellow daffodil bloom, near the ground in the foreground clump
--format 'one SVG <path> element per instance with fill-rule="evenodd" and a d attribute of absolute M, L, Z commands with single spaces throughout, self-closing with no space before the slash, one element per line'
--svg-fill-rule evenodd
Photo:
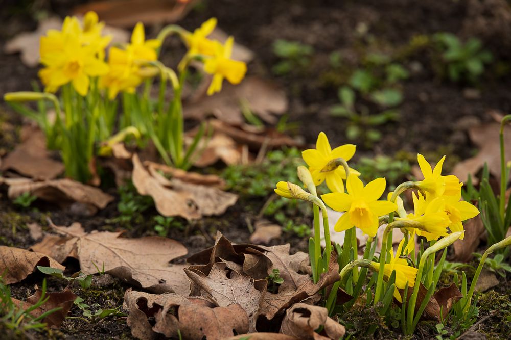
<path fill-rule="evenodd" d="M 402 239 L 399 243 L 398 250 L 396 255 L 394 255 L 394 248 L 392 247 L 389 250 L 390 253 L 390 263 L 385 264 L 383 269 L 383 277 L 385 280 L 388 280 L 392 271 L 396 271 L 396 289 L 394 289 L 394 297 L 402 302 L 401 294 L 399 294 L 398 289 L 405 289 L 406 282 L 408 282 L 409 287 L 413 287 L 415 285 L 415 277 L 417 276 L 417 268 L 413 268 L 408 265 L 407 261 L 404 258 L 400 258 L 401 251 L 403 249 L 403 243 L 405 239 Z M 371 265 L 376 271 L 380 270 L 380 264 L 377 262 L 371 262 Z"/>

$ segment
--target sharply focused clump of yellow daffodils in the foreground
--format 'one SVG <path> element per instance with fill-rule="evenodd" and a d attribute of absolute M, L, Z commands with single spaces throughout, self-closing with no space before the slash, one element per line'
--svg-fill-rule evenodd
<path fill-rule="evenodd" d="M 424 179 L 405 182 L 387 196 L 385 178 L 376 178 L 364 185 L 360 173 L 352 169 L 348 161 L 356 147 L 346 144 L 332 148 L 324 133 L 320 133 L 315 149 L 303 151 L 303 159 L 308 165 L 309 180 L 304 180 L 304 188 L 289 182 L 278 182 L 275 193 L 286 198 L 307 200 L 313 203 L 315 212 L 323 211 L 326 248 L 320 249 L 318 214 L 314 214 L 314 238 L 309 241 L 309 254 L 313 279 L 317 281 L 321 273 L 328 271 L 326 258 L 331 257 L 330 228 L 326 206 L 341 212 L 335 223 L 336 232 L 344 232 L 344 244 L 336 247 L 340 265 L 340 281 L 328 297 L 327 307 L 332 310 L 336 290 L 344 289 L 353 294 L 355 303 L 365 286 L 367 301 L 373 304 L 383 302 L 382 312 L 387 313 L 392 297 L 402 303 L 403 329 L 413 331 L 419 317 L 415 314 L 415 304 L 419 294 L 418 285 L 424 285 L 433 293 L 439 275 L 434 274 L 434 252 L 442 250 L 457 239 L 463 238 L 462 222 L 479 214 L 469 202 L 461 200 L 462 183 L 456 176 L 442 175 L 442 158 L 434 168 L 421 154 L 417 155 Z M 301 167 L 304 168 L 304 167 Z M 299 169 L 299 173 L 304 173 Z M 300 176 L 300 179 L 307 176 Z M 326 182 L 326 187 L 321 184 Z M 317 187 L 317 188 L 316 188 Z M 306 192 L 306 189 L 308 192 Z M 325 190 L 330 192 L 324 193 Z M 412 204 L 407 211 L 400 195 L 406 190 L 414 190 Z M 317 192 L 323 192 L 318 195 Z M 299 193 L 299 194 L 298 194 Z M 395 216 L 394 216 L 395 215 Z M 368 236 L 364 255 L 360 257 L 355 229 Z M 383 228 L 383 233 L 378 229 Z M 389 244 L 393 240 L 393 229 L 399 228 L 404 237 L 394 252 Z M 373 260 L 376 238 L 381 237 L 379 260 Z M 416 240 L 429 242 L 430 248 L 416 248 Z M 411 257 L 410 257 L 411 256 Z M 445 259 L 445 255 L 444 255 Z M 323 264 L 323 266 L 321 266 Z M 443 264 L 443 261 L 442 261 Z M 439 264 L 440 268 L 442 264 Z M 364 268 L 359 271 L 359 267 Z M 373 279 L 364 285 L 367 269 L 374 271 Z M 408 291 L 408 296 L 404 292 Z M 410 295 L 411 294 L 411 295 Z M 369 300 L 369 297 L 372 300 Z M 408 301 L 406 299 L 408 298 Z M 368 302 L 364 302 L 368 303 Z M 406 309 L 406 313 L 404 310 Z M 420 312 L 422 313 L 422 311 Z M 419 315 L 420 315 L 419 313 Z M 395 313 L 394 313 L 395 315 Z"/>

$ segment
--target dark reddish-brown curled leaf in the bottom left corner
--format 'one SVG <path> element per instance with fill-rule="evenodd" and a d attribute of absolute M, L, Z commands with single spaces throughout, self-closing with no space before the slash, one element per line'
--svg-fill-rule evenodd
<path fill-rule="evenodd" d="M 27 301 L 20 301 L 17 299 L 12 299 L 12 301 L 16 304 L 16 306 L 19 306 L 23 309 L 27 309 L 35 305 L 42 296 L 42 290 L 37 289 L 34 293 L 34 295 L 29 296 L 27 298 Z M 76 300 L 78 295 L 74 294 L 69 287 L 66 287 L 61 292 L 55 292 L 55 293 L 46 293 L 45 299 L 48 299 L 46 302 L 44 302 L 42 305 L 40 305 L 38 308 L 32 310 L 30 314 L 33 317 L 39 317 L 43 313 L 52 310 L 54 308 L 61 308 L 53 313 L 50 313 L 48 316 L 46 316 L 44 319 L 42 319 L 42 322 L 46 323 L 49 327 L 52 328 L 60 328 L 60 325 L 65 320 L 65 317 L 67 316 L 67 313 L 73 307 L 73 302 Z"/>

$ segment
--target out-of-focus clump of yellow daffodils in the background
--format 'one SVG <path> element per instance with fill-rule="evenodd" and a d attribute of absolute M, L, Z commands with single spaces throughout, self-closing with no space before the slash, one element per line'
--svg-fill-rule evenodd
<path fill-rule="evenodd" d="M 109 47 L 112 37 L 103 34 L 105 24 L 95 12 L 82 19 L 66 17 L 60 30 L 48 30 L 40 39 L 39 78 L 45 94 L 8 93 L 4 98 L 20 113 L 41 117 L 38 123 L 48 147 L 61 151 L 68 177 L 90 180 L 94 157 L 99 150 L 108 154 L 105 145 L 112 144 L 115 132 L 116 136 L 141 139 L 138 145 L 151 140 L 166 163 L 186 169 L 197 156 L 204 130 L 202 127 L 191 148 L 183 147 L 181 90 L 188 68 L 199 67 L 208 76 L 206 81 L 211 79 L 208 95 L 220 92 L 224 79 L 239 84 L 247 71 L 244 62 L 232 58 L 233 37 L 225 42 L 208 37 L 216 23 L 215 18 L 207 20 L 194 32 L 169 25 L 157 39 L 146 39 L 139 22 L 128 43 Z M 176 70 L 158 60 L 162 42 L 171 34 L 188 47 Z M 150 89 L 156 77 L 159 93 L 154 100 Z M 168 84 L 173 94 L 170 103 L 166 100 Z M 17 104 L 30 100 L 51 101 L 55 123 L 47 118 L 47 112 L 37 115 Z M 122 109 L 120 119 L 118 108 Z M 103 146 L 98 149 L 99 145 Z"/>

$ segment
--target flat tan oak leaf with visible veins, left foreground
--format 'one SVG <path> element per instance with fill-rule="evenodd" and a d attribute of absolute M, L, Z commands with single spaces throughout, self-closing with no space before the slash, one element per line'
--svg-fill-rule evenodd
<path fill-rule="evenodd" d="M 59 259 L 76 256 L 85 274 L 96 274 L 104 266 L 105 272 L 144 289 L 184 295 L 190 292 L 184 266 L 169 264 L 174 258 L 188 253 L 187 248 L 175 240 L 158 236 L 128 239 L 120 237 L 122 232 L 86 233 L 77 224 L 52 227 L 63 235 L 63 240 L 59 247 L 51 249 L 51 253 L 56 252 Z M 45 240 L 41 242 L 44 243 Z M 41 249 L 38 245 L 33 248 Z"/>

